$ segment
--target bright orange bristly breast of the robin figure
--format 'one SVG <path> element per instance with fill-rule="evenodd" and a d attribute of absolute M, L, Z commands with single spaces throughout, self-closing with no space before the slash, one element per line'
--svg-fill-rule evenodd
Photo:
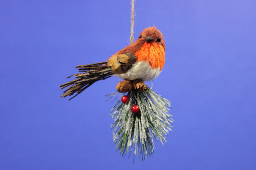
<path fill-rule="evenodd" d="M 164 47 L 155 42 L 145 43 L 138 51 L 134 54 L 138 61 L 145 60 L 149 62 L 149 65 L 154 68 L 160 68 L 164 66 L 165 52 Z"/>

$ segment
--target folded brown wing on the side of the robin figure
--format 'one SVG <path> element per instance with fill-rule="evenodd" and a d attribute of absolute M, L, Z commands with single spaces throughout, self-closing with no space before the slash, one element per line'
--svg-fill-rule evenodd
<path fill-rule="evenodd" d="M 126 73 L 136 61 L 137 57 L 133 53 L 125 53 L 110 57 L 108 65 L 115 74 L 122 74 Z"/>

